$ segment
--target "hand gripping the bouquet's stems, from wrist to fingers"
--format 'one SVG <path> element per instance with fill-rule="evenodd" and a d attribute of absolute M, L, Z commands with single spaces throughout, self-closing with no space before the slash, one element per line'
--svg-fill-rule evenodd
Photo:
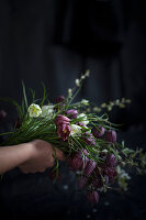
<path fill-rule="evenodd" d="M 19 168 L 27 173 L 45 172 L 47 167 L 53 167 L 55 164 L 54 150 L 53 146 L 42 140 L 35 140 L 27 143 L 27 147 L 31 148 L 30 158 L 19 165 Z M 65 160 L 63 152 L 56 148 L 56 157 L 60 161 Z"/>

